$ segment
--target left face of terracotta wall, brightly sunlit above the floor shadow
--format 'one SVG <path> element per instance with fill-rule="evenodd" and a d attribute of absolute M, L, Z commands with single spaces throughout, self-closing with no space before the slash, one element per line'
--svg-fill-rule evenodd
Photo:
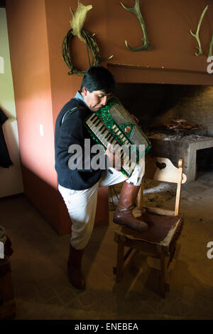
<path fill-rule="evenodd" d="M 7 1 L 11 66 L 17 108 L 21 162 L 54 184 L 53 122 L 45 5 Z M 40 135 L 43 125 L 44 137 Z"/>

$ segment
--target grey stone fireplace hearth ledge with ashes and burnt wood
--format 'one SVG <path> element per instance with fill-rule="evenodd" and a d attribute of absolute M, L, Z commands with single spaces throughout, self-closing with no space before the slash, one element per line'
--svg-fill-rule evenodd
<path fill-rule="evenodd" d="M 197 176 L 197 151 L 213 150 L 213 137 L 207 135 L 207 127 L 184 119 L 170 119 L 162 125 L 151 126 L 146 135 L 152 144 L 153 157 L 168 157 L 177 167 L 179 158 L 183 158 L 188 183 Z"/>

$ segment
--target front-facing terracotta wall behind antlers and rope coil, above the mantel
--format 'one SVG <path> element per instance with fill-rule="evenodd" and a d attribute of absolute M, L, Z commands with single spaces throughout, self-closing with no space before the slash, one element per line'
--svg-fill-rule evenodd
<path fill-rule="evenodd" d="M 105 62 L 105 65 L 114 73 L 117 81 L 212 85 L 213 75 L 207 73 L 207 56 L 213 33 L 212 0 L 141 0 L 141 14 L 146 23 L 151 50 L 139 52 L 129 51 L 125 46 L 125 40 L 133 47 L 140 46 L 143 36 L 141 26 L 136 16 L 122 8 L 119 0 L 82 2 L 84 5 L 93 6 L 87 14 L 84 28 L 96 34 L 95 38 L 103 58 L 114 56 Z M 123 3 L 133 7 L 135 0 L 126 0 Z M 60 75 L 63 77 L 62 88 L 69 87 L 70 83 L 72 85 L 80 82 L 77 78 L 65 78 L 67 69 L 60 58 L 62 38 L 70 29 L 69 21 L 72 18 L 69 8 L 72 6 L 75 11 L 77 0 L 60 1 L 60 6 L 57 0 L 46 0 L 45 5 L 51 75 L 57 90 Z M 203 55 L 195 56 L 197 42 L 191 36 L 190 29 L 196 32 L 200 15 L 207 5 L 209 8 L 200 28 Z M 84 43 L 73 38 L 71 45 L 75 66 L 81 69 L 87 67 Z M 62 88 L 61 95 L 66 100 L 66 89 L 64 91 Z"/>

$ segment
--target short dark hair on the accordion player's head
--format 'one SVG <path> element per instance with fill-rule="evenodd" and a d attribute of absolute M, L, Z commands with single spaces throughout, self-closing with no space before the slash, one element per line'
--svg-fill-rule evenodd
<path fill-rule="evenodd" d="M 92 93 L 94 90 L 103 90 L 104 93 L 114 93 L 115 80 L 114 76 L 102 66 L 92 66 L 84 74 L 82 88 L 85 87 Z"/>

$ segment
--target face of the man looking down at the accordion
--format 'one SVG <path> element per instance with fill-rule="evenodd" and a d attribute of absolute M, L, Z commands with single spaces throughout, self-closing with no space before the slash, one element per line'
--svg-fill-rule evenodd
<path fill-rule="evenodd" d="M 106 105 L 109 98 L 112 97 L 111 93 L 106 94 L 102 90 L 93 90 L 93 92 L 90 93 L 85 87 L 82 89 L 82 96 L 87 107 L 94 112 Z"/>

